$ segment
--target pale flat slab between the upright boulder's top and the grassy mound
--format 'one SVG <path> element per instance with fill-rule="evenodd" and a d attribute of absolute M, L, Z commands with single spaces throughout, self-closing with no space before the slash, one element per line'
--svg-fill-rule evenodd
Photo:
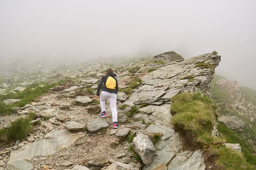
<path fill-rule="evenodd" d="M 154 133 L 162 133 L 163 136 L 161 137 L 161 141 L 164 141 L 175 134 L 175 131 L 171 127 L 167 127 L 163 125 L 151 124 L 146 129 Z"/>

